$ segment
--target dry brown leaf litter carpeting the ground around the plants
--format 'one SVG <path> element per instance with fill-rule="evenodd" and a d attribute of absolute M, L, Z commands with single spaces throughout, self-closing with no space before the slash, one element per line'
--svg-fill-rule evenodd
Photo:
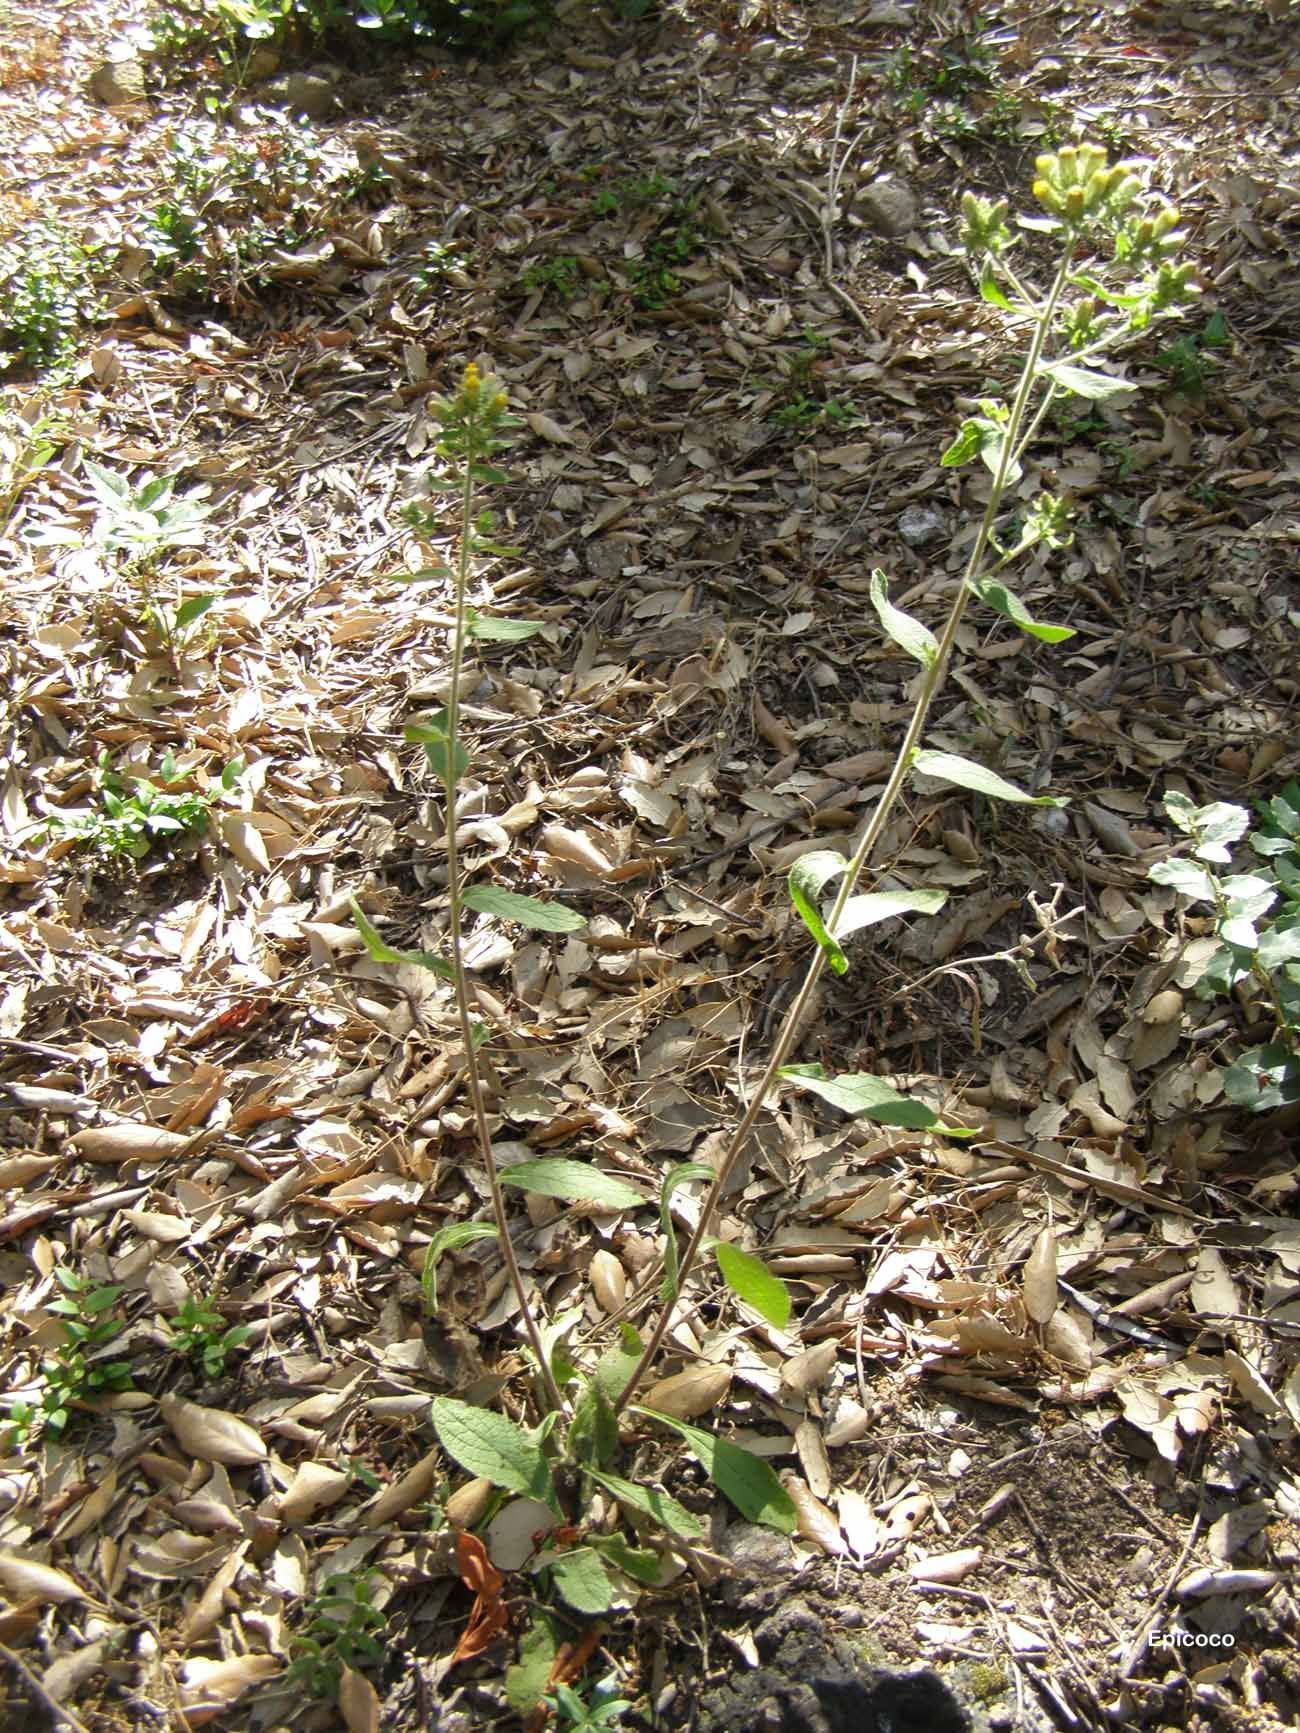
<path fill-rule="evenodd" d="M 0 1463 L 14 1704 L 35 1690 L 104 1728 L 331 1724 L 329 1693 L 314 1709 L 293 1683 L 322 1619 L 354 1639 L 329 1681 L 348 1728 L 418 1726 L 430 1691 L 482 1716 L 501 1681 L 525 1714 L 536 1684 L 510 1695 L 508 1665 L 563 1683 L 601 1641 L 626 1695 L 726 1669 L 705 1617 L 648 1587 L 614 1629 L 534 1626 L 515 1653 L 513 1561 L 546 1523 L 497 1530 L 494 1561 L 470 1532 L 482 1483 L 435 1442 L 433 1399 L 491 1421 L 520 1360 L 499 1253 L 456 1236 L 485 1192 L 445 986 L 376 960 L 352 918 L 404 953 L 437 951 L 445 920 L 437 789 L 404 731 L 445 698 L 449 617 L 437 579 L 402 582 L 421 561 L 402 506 L 430 392 L 491 355 L 527 438 L 497 503 L 522 553 L 475 598 L 520 633 L 480 634 L 461 691 L 461 835 L 497 898 L 471 969 L 494 1142 L 506 1177 L 534 1175 L 518 1256 L 544 1314 L 595 1333 L 657 1284 L 662 1178 L 709 1161 L 792 991 L 777 875 L 848 853 L 881 789 L 912 671 L 872 574 L 924 615 L 960 568 L 978 490 L 934 454 L 1005 357 L 952 256 L 952 189 L 1014 182 L 1068 111 L 1158 158 L 1231 345 L 1139 355 L 1121 418 L 1083 404 L 1059 430 L 1083 520 L 1024 589 L 1076 638 L 1054 662 L 967 634 L 933 780 L 887 839 L 896 906 L 941 887 L 946 908 L 837 934 L 851 969 L 801 1042 L 978 1137 L 775 1102 L 721 1234 L 794 1310 L 705 1284 L 645 1392 L 671 1428 L 638 1433 L 636 1492 L 605 1490 L 655 1501 L 678 1572 L 721 1577 L 716 1639 L 742 1655 L 780 1593 L 744 1568 L 766 1522 L 801 1593 L 894 1664 L 979 1664 L 1071 1726 L 1295 1719 L 1295 1118 L 1231 1111 L 1250 1031 L 1196 996 L 1208 924 L 1147 875 L 1177 841 L 1170 783 L 1250 804 L 1297 771 L 1290 75 L 1245 10 L 993 14 L 1019 104 L 1000 142 L 988 92 L 965 121 L 884 101 L 884 55 L 962 23 L 893 7 L 853 29 L 782 5 L 570 21 L 499 71 L 432 55 L 380 90 L 345 81 L 309 132 L 380 165 L 385 203 L 231 305 L 121 286 L 47 406 L 5 383 L 7 418 L 57 426 L 38 473 L 16 470 L 10 419 L 0 445 L 10 1407 L 40 1402 L 90 1317 L 55 1310 L 57 1270 L 92 1301 L 120 1289 L 101 1359 L 130 1367 Z M 57 177 L 62 220 L 120 243 L 185 97 L 106 109 L 81 87 L 109 21 L 33 29 L 28 61 L 3 47 L 3 222 Z M 875 71 L 848 116 L 832 284 L 855 54 Z M 650 232 L 593 206 L 593 187 L 627 204 L 624 165 L 697 201 L 700 246 L 659 307 L 608 281 Z M 903 232 L 868 217 L 881 175 L 912 189 Z M 426 239 L 463 263 L 413 293 Z M 539 289 L 569 255 L 575 295 Z M 142 636 L 78 456 L 208 489 L 177 574 L 217 600 L 175 657 Z M 168 747 L 213 795 L 205 832 L 132 866 L 40 835 L 95 809 L 104 752 L 156 780 Z M 971 750 L 1069 809 L 953 789 Z M 539 884 L 584 932 L 511 924 Z M 607 1191 L 574 1196 L 567 1168 L 593 1158 Z M 664 1208 L 690 1230 L 699 1196 Z M 194 1296 L 217 1340 L 248 1329 L 215 1376 L 172 1348 Z M 744 1468 L 766 1459 L 777 1503 Z M 1220 1641 L 1175 1664 L 1168 1627 Z M 666 1724 L 692 1690 L 660 1693 Z"/>

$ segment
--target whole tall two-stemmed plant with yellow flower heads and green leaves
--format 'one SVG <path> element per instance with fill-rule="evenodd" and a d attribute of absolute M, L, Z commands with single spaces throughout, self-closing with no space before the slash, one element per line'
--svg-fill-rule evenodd
<path fill-rule="evenodd" d="M 834 851 L 804 854 L 790 870 L 789 894 L 811 939 L 803 984 L 777 1033 L 761 1076 L 749 1087 L 749 1106 L 728 1135 L 712 1166 L 681 1163 L 659 1185 L 662 1236 L 652 1279 L 631 1296 L 614 1270 L 593 1265 L 593 1286 L 605 1282 L 610 1322 L 603 1341 L 579 1341 L 581 1308 L 541 1317 L 513 1251 L 506 1199 L 511 1191 L 589 1204 L 605 1211 L 643 1206 L 640 1185 L 601 1172 L 589 1161 L 546 1156 L 501 1165 L 492 1147 L 480 1074 L 492 1031 L 477 1014 L 477 995 L 465 967 L 465 946 L 473 915 L 513 920 L 541 932 L 569 932 L 584 922 L 563 903 L 546 903 L 504 887 L 466 880 L 458 832 L 459 789 L 471 766 L 463 738 L 459 693 L 470 639 L 470 594 L 484 581 L 484 560 L 508 558 L 492 539 L 478 496 L 506 480 L 499 452 L 511 438 L 508 399 L 501 383 L 470 364 L 454 395 L 437 406 L 440 437 L 430 490 L 447 496 L 456 510 L 456 555 L 449 563 L 430 560 L 421 581 L 440 582 L 451 596 L 452 641 L 447 704 L 419 724 L 407 740 L 425 747 L 428 766 L 444 797 L 447 861 L 445 950 L 414 951 L 392 946 L 371 917 L 354 901 L 362 939 L 378 962 L 414 965 L 437 974 L 451 988 L 459 1029 L 465 1081 L 478 1158 L 487 1178 L 491 1213 L 484 1220 L 454 1222 L 440 1229 L 426 1253 L 425 1300 L 437 1310 L 440 1260 L 477 1239 L 496 1243 L 513 1289 L 523 1352 L 525 1388 L 511 1416 L 454 1397 L 433 1400 L 433 1430 L 447 1456 L 473 1477 L 447 1501 L 458 1529 L 458 1563 L 475 1593 L 475 1610 L 456 1658 L 480 1653 L 508 1626 L 503 1574 L 491 1563 L 477 1530 L 497 1518 L 522 1525 L 522 1568 L 534 1584 L 534 1612 L 520 1634 L 520 1660 L 511 1669 L 511 1707 L 527 1712 L 546 1697 L 560 1646 L 551 1608 L 563 1605 L 581 1615 L 607 1612 L 640 1586 L 655 1586 L 702 1539 L 699 1516 L 666 1490 L 631 1478 L 624 1468 L 624 1433 L 653 1435 L 653 1428 L 685 1442 L 707 1478 L 751 1522 L 792 1532 L 799 1508 L 766 1459 L 747 1452 L 693 1421 L 709 1412 L 719 1393 L 712 1366 L 657 1376 L 659 1357 L 679 1298 L 688 1291 L 704 1258 L 730 1289 L 733 1301 L 766 1324 L 783 1329 L 790 1295 L 754 1251 L 718 1237 L 719 1201 L 737 1163 L 749 1147 L 764 1104 L 780 1087 L 818 1095 L 832 1107 L 908 1126 L 934 1137 L 971 1137 L 974 1128 L 948 1123 L 936 1102 L 920 1092 L 901 1094 L 874 1073 L 829 1076 L 816 1064 L 792 1059 L 796 1035 L 823 969 L 849 969 L 846 941 L 863 929 L 898 915 L 938 912 L 941 889 L 901 889 L 870 884 L 874 854 L 903 789 L 919 778 L 965 789 L 993 802 L 1024 806 L 1064 804 L 1056 795 L 1016 787 L 995 769 L 950 750 L 926 745 L 927 721 L 957 646 L 959 629 L 972 605 L 985 607 L 1009 627 L 1056 645 L 1071 636 L 1068 626 L 1038 620 L 1007 586 L 1007 570 L 1033 549 L 1061 548 L 1069 541 L 1068 503 L 1043 494 L 1023 503 L 1009 494 L 1023 477 L 1024 456 L 1050 426 L 1052 406 L 1075 397 L 1092 404 L 1127 400 L 1134 386 L 1099 366 L 1116 345 L 1144 333 L 1156 319 L 1193 298 L 1187 267 L 1177 263 L 1182 236 L 1177 211 L 1147 189 L 1139 165 L 1111 165 L 1094 146 L 1047 153 L 1037 161 L 1033 185 L 1038 213 L 1012 222 L 1005 201 L 967 194 L 962 199 L 962 246 L 981 296 L 1002 308 L 1021 333 L 1024 362 L 1009 400 L 990 397 L 967 416 L 943 464 L 981 463 L 988 480 L 978 496 L 983 513 L 971 542 L 965 572 L 955 582 L 946 617 L 938 631 L 905 613 L 889 600 L 884 572 L 874 572 L 870 598 L 882 633 L 919 664 L 912 686 L 912 714 L 886 782 L 851 858 Z M 1028 241 L 1047 250 L 1030 253 Z M 416 506 L 409 522 L 430 539 L 439 530 L 433 506 Z M 829 887 L 837 886 L 834 894 Z M 704 1185 L 697 1225 L 685 1248 L 678 1244 L 673 1198 L 685 1185 Z M 598 1255 L 600 1256 L 600 1255 Z M 614 1260 L 617 1263 L 617 1260 Z M 657 1303 L 650 1327 L 640 1319 Z M 508 1515 L 510 1513 L 510 1515 Z M 570 1683 L 570 1681 L 565 1681 Z M 577 1712 L 555 1695 L 556 1707 Z M 586 1709 L 582 1710 L 586 1712 Z"/>

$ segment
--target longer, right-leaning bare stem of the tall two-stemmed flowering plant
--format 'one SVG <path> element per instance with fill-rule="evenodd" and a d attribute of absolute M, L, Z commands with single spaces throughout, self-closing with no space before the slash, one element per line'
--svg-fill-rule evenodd
<path fill-rule="evenodd" d="M 985 553 L 988 549 L 990 537 L 993 534 L 993 523 L 1002 506 L 1002 496 L 1007 487 L 1007 477 L 1011 473 L 1012 458 L 1019 444 L 1019 432 L 1021 426 L 1024 425 L 1024 416 L 1030 406 L 1030 399 L 1033 395 L 1033 386 L 1038 378 L 1038 362 L 1042 360 L 1043 345 L 1047 343 L 1047 338 L 1050 334 L 1052 321 L 1056 319 L 1056 308 L 1064 291 L 1066 279 L 1069 276 L 1071 255 L 1073 255 L 1073 237 L 1069 237 L 1066 244 L 1066 251 L 1061 260 L 1061 267 L 1056 274 L 1056 279 L 1052 282 L 1052 288 L 1035 319 L 1033 341 L 1030 343 L 1030 354 L 1024 362 L 1024 369 L 1021 373 L 1011 416 L 1007 419 L 1007 433 L 1002 442 L 1002 454 L 998 459 L 997 473 L 993 477 L 993 487 L 990 489 L 988 494 L 988 504 L 985 506 L 985 515 L 979 523 L 979 534 L 976 535 L 974 548 L 971 549 L 971 558 L 967 560 L 965 572 L 962 574 L 962 579 L 957 584 L 957 593 L 952 600 L 952 607 L 948 608 L 948 619 L 945 620 L 943 633 L 939 636 L 938 653 L 934 660 L 929 664 L 929 667 L 926 667 L 924 671 L 920 691 L 912 709 L 912 719 L 908 723 L 907 735 L 903 737 L 903 743 L 900 745 L 898 756 L 894 757 L 894 766 L 889 773 L 889 782 L 886 783 L 881 799 L 875 802 L 875 809 L 867 823 L 867 828 L 861 834 L 861 841 L 858 842 L 853 860 L 849 861 L 844 872 L 839 896 L 835 898 L 830 915 L 827 917 L 827 931 L 832 934 L 835 932 L 839 918 L 844 912 L 844 905 L 853 896 L 858 879 L 861 877 L 865 866 L 868 865 L 872 854 L 875 853 L 875 846 L 879 844 L 881 835 L 884 834 L 893 808 L 900 794 L 903 792 L 903 783 L 907 782 L 907 776 L 912 769 L 912 757 L 920 743 L 920 737 L 924 733 L 926 721 L 929 717 L 931 704 L 934 702 L 934 697 L 938 695 L 939 688 L 946 679 L 948 662 L 952 660 L 952 652 L 957 643 L 957 631 L 962 624 L 962 615 L 965 613 L 967 601 L 971 600 L 972 594 L 972 584 L 976 577 L 983 574 Z M 695 1225 L 695 1232 L 690 1236 L 686 1249 L 681 1255 L 681 1263 L 678 1267 L 676 1291 L 660 1308 L 655 1327 L 650 1331 L 650 1338 L 647 1340 L 647 1345 L 641 1350 L 641 1357 L 636 1362 L 636 1371 L 631 1374 L 622 1393 L 614 1404 L 615 1414 L 621 1412 L 622 1407 L 636 1395 L 636 1386 L 641 1383 L 641 1378 L 645 1376 L 647 1369 L 653 1364 L 653 1359 L 659 1353 L 664 1336 L 667 1334 L 669 1324 L 673 1322 L 678 1298 L 685 1291 L 686 1279 L 692 1274 L 704 1249 L 704 1243 L 712 1230 L 712 1220 L 718 1213 L 718 1206 L 723 1199 L 723 1194 L 728 1189 L 731 1173 L 749 1144 L 749 1133 L 754 1130 L 754 1123 L 766 1102 L 768 1090 L 777 1081 L 777 1073 L 785 1064 L 785 1057 L 790 1047 L 794 1045 L 797 1031 L 803 1026 L 804 1012 L 811 1003 L 816 983 L 820 981 L 822 970 L 825 969 L 825 960 L 827 960 L 825 951 L 818 944 L 808 964 L 803 984 L 796 993 L 789 1010 L 785 1012 L 780 1029 L 777 1031 L 777 1040 L 773 1042 L 771 1054 L 763 1069 L 763 1076 L 759 1078 L 757 1087 L 751 1094 L 749 1106 L 745 1107 L 745 1113 L 740 1123 L 737 1125 L 735 1132 L 731 1133 L 721 1161 L 718 1163 L 718 1173 L 700 1206 L 700 1218 Z"/>

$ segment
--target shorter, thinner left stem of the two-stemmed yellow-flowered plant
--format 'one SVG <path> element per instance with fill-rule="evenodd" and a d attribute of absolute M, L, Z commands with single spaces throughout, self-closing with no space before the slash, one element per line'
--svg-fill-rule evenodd
<path fill-rule="evenodd" d="M 543 1347 L 541 1329 L 537 1327 L 537 1317 L 529 1301 L 529 1291 L 523 1286 L 523 1272 L 518 1267 L 518 1258 L 515 1256 L 515 1244 L 510 1237 L 510 1222 L 506 1220 L 506 1198 L 501 1189 L 501 1175 L 496 1165 L 496 1156 L 492 1154 L 492 1133 L 487 1128 L 487 1106 L 484 1102 L 484 1081 L 478 1074 L 478 1061 L 475 1057 L 475 1038 L 473 1038 L 473 1014 L 470 1007 L 470 981 L 465 972 L 465 951 L 461 944 L 461 858 L 459 858 L 459 839 L 456 832 L 456 757 L 459 749 L 459 716 L 461 716 L 461 669 L 465 665 L 465 591 L 468 587 L 470 577 L 470 537 L 473 523 L 473 451 L 470 449 L 465 456 L 465 485 L 461 490 L 461 551 L 456 561 L 456 629 L 452 633 L 452 652 L 451 652 L 451 693 L 447 697 L 447 743 L 444 747 L 444 787 L 447 790 L 447 889 L 449 889 L 449 931 L 451 931 L 451 967 L 456 977 L 456 1016 L 461 1026 L 461 1042 L 465 1043 L 465 1080 L 470 1090 L 470 1102 L 473 1106 L 473 1123 L 478 1135 L 478 1152 L 484 1158 L 484 1168 L 487 1170 L 487 1191 L 492 1199 L 492 1220 L 496 1222 L 496 1234 L 501 1244 L 501 1256 L 506 1260 L 506 1274 L 510 1277 L 510 1286 L 515 1289 L 515 1298 L 518 1300 L 520 1315 L 523 1319 L 523 1327 L 529 1333 L 529 1341 L 532 1352 L 537 1357 L 537 1371 L 546 1390 L 546 1400 L 549 1407 L 556 1412 L 563 1412 L 563 1397 L 560 1395 L 560 1386 L 555 1381 L 549 1362 L 546 1359 L 546 1348 Z"/>

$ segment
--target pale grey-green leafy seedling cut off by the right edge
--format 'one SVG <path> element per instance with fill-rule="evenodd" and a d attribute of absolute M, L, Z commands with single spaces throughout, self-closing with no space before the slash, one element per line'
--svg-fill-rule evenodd
<path fill-rule="evenodd" d="M 1191 839 L 1191 858 L 1156 861 L 1147 877 L 1213 908 L 1219 950 L 1196 993 L 1258 1000 L 1272 1022 L 1269 1042 L 1227 1066 L 1224 1094 L 1250 1113 L 1288 1107 L 1300 1100 L 1300 783 L 1288 782 L 1257 809 L 1262 825 L 1250 834 L 1255 860 L 1246 870 L 1222 870 L 1250 825 L 1243 806 L 1194 806 L 1167 794 L 1165 811 Z"/>

